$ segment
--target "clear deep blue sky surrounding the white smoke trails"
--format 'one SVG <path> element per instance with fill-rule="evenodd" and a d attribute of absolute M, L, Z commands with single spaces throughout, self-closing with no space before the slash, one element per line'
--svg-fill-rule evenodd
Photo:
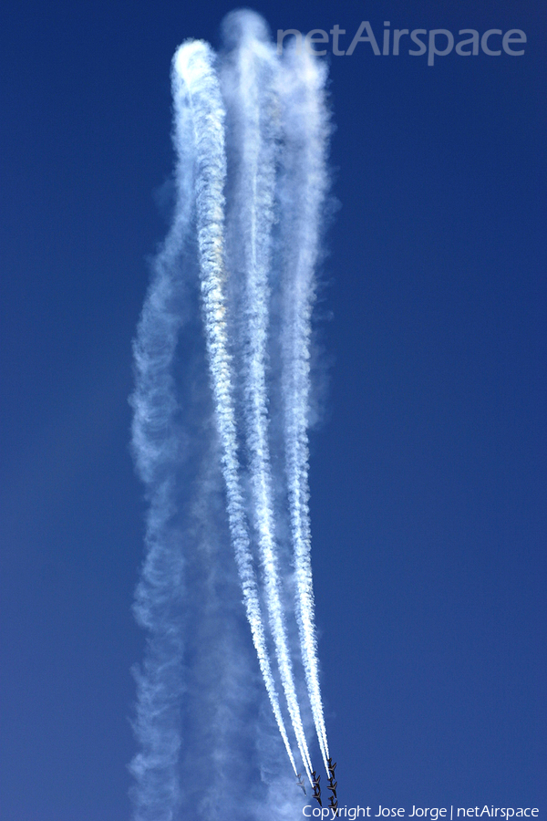
<path fill-rule="evenodd" d="M 522 57 L 328 57 L 340 208 L 310 477 L 342 802 L 544 813 L 544 11 L 253 7 L 274 31 L 527 34 Z M 129 818 L 131 339 L 168 228 L 170 59 L 218 46 L 231 8 L 3 11 L 5 821 Z"/>

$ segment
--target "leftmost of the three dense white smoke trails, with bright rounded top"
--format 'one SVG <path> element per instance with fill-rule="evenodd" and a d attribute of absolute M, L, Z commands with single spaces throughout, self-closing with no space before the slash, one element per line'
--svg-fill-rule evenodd
<path fill-rule="evenodd" d="M 193 115 L 197 159 L 196 205 L 201 259 L 201 296 L 212 375 L 212 392 L 222 442 L 222 472 L 226 484 L 232 543 L 254 647 L 272 703 L 275 720 L 294 773 L 296 773 L 294 756 L 284 727 L 266 648 L 238 475 L 232 366 L 228 353 L 226 327 L 226 274 L 223 260 L 223 187 L 226 177 L 224 109 L 219 83 L 212 68 L 213 58 L 212 50 L 207 44 L 191 42 L 179 48 L 174 58 L 174 67 L 181 85 L 187 89 Z M 186 136 L 185 131 L 177 134 L 177 146 L 182 152 L 185 151 L 182 140 L 185 140 Z"/>

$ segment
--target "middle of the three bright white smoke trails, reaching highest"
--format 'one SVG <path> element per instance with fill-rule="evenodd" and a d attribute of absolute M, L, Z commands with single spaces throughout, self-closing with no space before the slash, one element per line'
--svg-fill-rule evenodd
<path fill-rule="evenodd" d="M 249 12 L 232 16 L 239 24 L 231 102 L 241 162 L 237 180 L 237 213 L 243 245 L 243 372 L 245 433 L 250 454 L 253 506 L 263 566 L 265 600 L 274 637 L 284 693 L 304 768 L 312 780 L 312 764 L 294 688 L 280 595 L 279 556 L 274 541 L 274 505 L 268 444 L 265 356 L 269 324 L 268 272 L 275 196 L 274 80 L 278 60 L 267 42 L 263 21 Z"/>

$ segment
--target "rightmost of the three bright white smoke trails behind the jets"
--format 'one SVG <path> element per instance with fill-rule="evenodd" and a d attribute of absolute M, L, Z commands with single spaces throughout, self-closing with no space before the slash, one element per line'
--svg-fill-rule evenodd
<path fill-rule="evenodd" d="M 315 264 L 325 200 L 325 67 L 304 51 L 286 55 L 280 82 L 285 151 L 283 397 L 285 459 L 291 508 L 296 575 L 296 617 L 315 729 L 325 768 L 328 758 L 323 702 L 319 688 L 314 627 L 314 591 L 310 561 L 307 422 L 310 393 L 311 313 L 315 299 Z M 327 770 L 328 772 L 328 770 Z"/>

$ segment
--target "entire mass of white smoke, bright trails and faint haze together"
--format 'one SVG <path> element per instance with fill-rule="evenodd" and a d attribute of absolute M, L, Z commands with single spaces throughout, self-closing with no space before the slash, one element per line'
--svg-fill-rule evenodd
<path fill-rule="evenodd" d="M 148 637 L 135 673 L 136 821 L 170 821 L 185 807 L 223 818 L 235 805 L 241 818 L 294 816 L 285 710 L 310 779 L 303 709 L 311 706 L 325 765 L 328 756 L 307 483 L 325 71 L 308 55 L 278 57 L 253 13 L 228 16 L 224 33 L 221 58 L 201 41 L 173 58 L 177 206 L 135 342 L 133 450 L 150 505 L 135 604 Z M 276 390 L 282 405 L 271 400 Z M 284 459 L 284 476 L 274 476 L 274 458 Z M 279 542 L 283 517 L 292 560 Z"/>

